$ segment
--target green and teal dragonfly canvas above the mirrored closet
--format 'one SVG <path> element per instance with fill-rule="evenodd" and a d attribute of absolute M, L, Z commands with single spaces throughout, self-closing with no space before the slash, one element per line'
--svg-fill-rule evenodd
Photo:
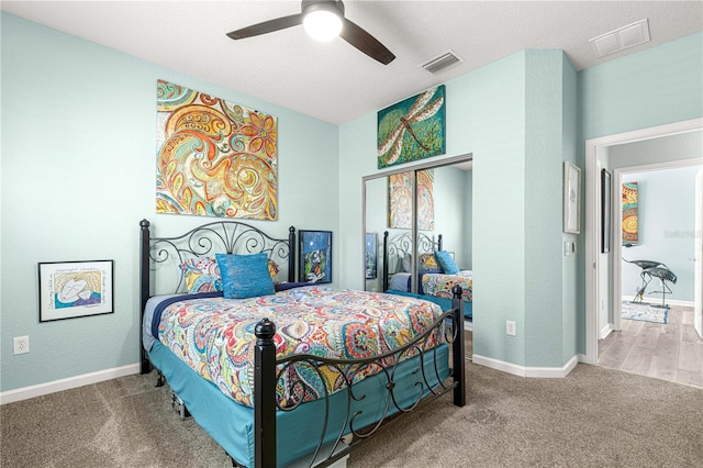
<path fill-rule="evenodd" d="M 444 85 L 379 111 L 379 169 L 444 153 Z"/>

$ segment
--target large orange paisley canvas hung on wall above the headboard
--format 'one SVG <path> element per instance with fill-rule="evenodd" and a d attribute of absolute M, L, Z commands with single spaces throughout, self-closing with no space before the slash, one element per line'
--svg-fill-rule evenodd
<path fill-rule="evenodd" d="M 156 212 L 278 218 L 272 115 L 157 82 Z"/>

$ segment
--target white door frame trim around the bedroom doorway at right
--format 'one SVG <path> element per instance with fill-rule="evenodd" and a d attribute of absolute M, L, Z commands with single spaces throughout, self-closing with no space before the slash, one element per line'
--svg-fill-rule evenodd
<path fill-rule="evenodd" d="M 585 355 L 583 356 L 583 363 L 598 364 L 598 339 L 600 336 L 596 307 L 599 298 L 598 278 L 600 268 L 606 267 L 605 263 L 600 265 L 599 249 L 599 234 L 601 232 L 601 207 L 598 203 L 601 179 L 596 168 L 599 148 L 700 131 L 702 129 L 703 118 L 700 118 L 585 141 Z M 615 225 L 614 227 L 616 229 Z"/>

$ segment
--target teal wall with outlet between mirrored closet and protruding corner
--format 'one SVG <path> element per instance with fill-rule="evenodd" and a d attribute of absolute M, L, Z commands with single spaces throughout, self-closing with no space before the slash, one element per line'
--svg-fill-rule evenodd
<path fill-rule="evenodd" d="M 451 86 L 449 86 L 451 85 Z M 473 353 L 524 364 L 525 53 L 447 85 L 447 105 L 469 110 L 447 148 L 473 154 Z M 447 114 L 447 122 L 453 122 Z M 460 142 L 460 143 L 459 143 Z M 505 335 L 505 321 L 517 335 Z"/>

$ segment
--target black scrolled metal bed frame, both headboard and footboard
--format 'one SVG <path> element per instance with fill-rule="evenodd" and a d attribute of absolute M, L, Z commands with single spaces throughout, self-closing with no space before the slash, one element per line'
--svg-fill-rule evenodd
<path fill-rule="evenodd" d="M 144 305 L 150 296 L 150 264 L 163 263 L 166 257 L 176 255 L 179 260 L 183 259 L 183 256 L 194 255 L 201 256 L 212 252 L 213 242 L 210 238 L 215 236 L 216 243 L 225 246 L 225 252 L 232 253 L 235 249 L 237 239 L 247 237 L 242 230 L 249 232 L 249 238 L 252 234 L 257 237 L 258 243 L 247 241 L 247 249 L 250 247 L 252 253 L 268 252 L 269 254 L 277 253 L 282 258 L 289 259 L 289 279 L 294 279 L 294 260 L 295 260 L 295 230 L 290 227 L 288 241 L 274 239 L 263 233 L 260 230 L 250 225 L 239 223 L 236 221 L 221 221 L 210 223 L 196 227 L 188 233 L 177 237 L 150 237 L 149 222 L 143 220 L 141 223 L 141 297 L 142 297 L 142 313 L 143 320 Z M 221 231 L 222 230 L 222 231 Z M 207 234 L 207 235 L 203 235 Z M 185 247 L 180 243 L 185 243 Z M 272 244 L 271 244 L 272 243 Z M 283 247 L 283 245 L 286 247 Z M 160 247 L 159 247 L 160 246 Z M 154 254 L 155 253 L 155 254 Z M 179 285 L 181 287 L 181 285 Z M 178 291 L 174 291 L 178 292 Z M 422 408 L 443 394 L 453 391 L 454 404 L 457 406 L 464 406 L 466 404 L 466 381 L 465 381 L 465 342 L 464 342 L 464 311 L 461 298 L 461 288 L 456 287 L 453 291 L 455 300 L 453 301 L 454 309 L 445 312 L 438 317 L 433 326 L 422 335 L 419 335 L 411 343 L 405 346 L 393 349 L 391 352 L 380 354 L 367 359 L 330 359 L 321 358 L 313 355 L 292 355 L 282 359 L 276 358 L 276 345 L 274 343 L 274 336 L 276 335 L 276 324 L 268 319 L 261 320 L 257 323 L 255 328 L 256 346 L 254 352 L 255 357 L 255 376 L 254 376 L 254 434 L 255 434 L 255 467 L 276 467 L 277 463 L 277 448 L 276 448 L 276 413 L 278 411 L 293 411 L 298 408 L 303 398 L 300 401 L 289 403 L 287 406 L 281 406 L 277 399 L 277 385 L 283 372 L 290 366 L 309 366 L 323 382 L 327 382 L 323 376 L 323 368 L 334 369 L 342 379 L 344 379 L 344 389 L 341 391 L 346 392 L 346 413 L 344 417 L 344 424 L 342 430 L 332 443 L 326 442 L 327 423 L 330 417 L 330 394 L 325 394 L 325 415 L 322 434 L 316 445 L 314 454 L 312 454 L 308 466 L 310 467 L 326 467 L 335 461 L 344 458 L 360 444 L 366 443 L 370 436 L 387 428 L 392 424 L 397 424 L 402 420 L 404 413 L 412 410 Z M 140 321 L 140 330 L 142 326 L 142 320 Z M 140 336 L 141 338 L 141 336 Z M 436 357 L 437 346 L 432 345 L 431 341 L 436 344 L 446 342 L 450 345 L 451 355 L 451 368 L 450 378 L 448 380 L 442 380 L 436 365 L 436 359 L 433 358 L 434 368 L 427 369 L 423 364 L 426 354 L 433 354 Z M 140 348 L 142 355 L 141 372 L 146 374 L 150 370 L 150 363 L 148 361 L 148 355 L 142 346 L 140 341 Z M 397 400 L 394 392 L 395 388 L 395 370 L 397 366 L 403 360 L 404 357 L 415 356 L 419 357 L 419 369 L 416 372 L 422 377 L 421 381 L 415 383 L 417 390 L 414 401 L 405 406 L 402 406 Z M 379 369 L 379 374 L 384 376 L 384 387 L 388 391 L 386 398 L 386 406 L 382 412 L 381 419 L 371 426 L 356 427 L 355 421 L 360 415 L 360 412 L 350 412 L 352 402 L 359 401 L 365 398 L 364 394 L 357 394 L 353 387 L 354 375 L 368 366 L 376 366 Z M 431 383 L 438 382 L 438 383 Z M 291 382 L 291 388 L 298 388 L 303 390 L 304 397 L 304 383 Z M 325 386 L 326 388 L 326 386 Z M 234 424 L 234 423 L 233 423 Z M 232 459 L 233 464 L 236 461 Z"/>

